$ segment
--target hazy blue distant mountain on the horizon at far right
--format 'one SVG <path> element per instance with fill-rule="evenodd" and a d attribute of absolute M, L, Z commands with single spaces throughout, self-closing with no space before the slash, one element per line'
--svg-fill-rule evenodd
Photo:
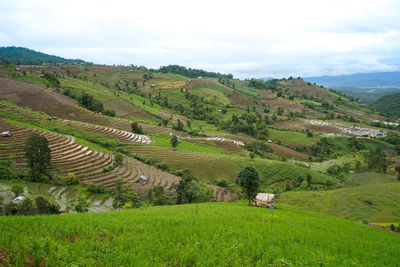
<path fill-rule="evenodd" d="M 340 76 L 305 77 L 304 81 L 323 85 L 327 88 L 353 87 L 352 91 L 354 91 L 356 88 L 400 88 L 400 71 L 356 73 Z"/>

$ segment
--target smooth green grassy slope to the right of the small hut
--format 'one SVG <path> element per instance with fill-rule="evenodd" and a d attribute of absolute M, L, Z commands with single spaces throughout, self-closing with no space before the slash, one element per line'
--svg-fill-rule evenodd
<path fill-rule="evenodd" d="M 400 183 L 371 184 L 319 192 L 286 192 L 277 202 L 351 220 L 393 222 L 400 218 Z"/>

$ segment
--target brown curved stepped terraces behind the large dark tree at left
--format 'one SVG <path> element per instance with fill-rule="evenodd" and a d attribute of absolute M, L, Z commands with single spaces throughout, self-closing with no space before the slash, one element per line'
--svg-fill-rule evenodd
<path fill-rule="evenodd" d="M 113 132 L 109 128 L 101 128 L 104 131 Z M 98 130 L 96 128 L 96 130 Z M 115 129 L 114 129 L 115 130 Z M 126 186 L 132 186 L 139 192 L 144 192 L 153 186 L 163 186 L 169 188 L 178 181 L 178 177 L 163 172 L 157 168 L 143 164 L 142 162 L 125 158 L 122 164 L 111 172 L 104 172 L 114 162 L 112 154 L 94 151 L 88 147 L 76 143 L 75 138 L 69 135 L 60 135 L 53 132 L 29 129 L 26 127 L 11 125 L 0 121 L 0 131 L 12 132 L 11 137 L 0 139 L 1 160 L 13 160 L 17 169 L 25 169 L 26 158 L 24 155 L 25 140 L 32 133 L 37 133 L 47 138 L 51 149 L 50 170 L 57 171 L 60 175 L 74 173 L 81 178 L 82 184 L 103 184 L 105 188 L 111 189 L 118 178 L 122 178 Z M 125 132 L 114 131 L 113 133 L 122 135 L 122 138 L 132 138 Z M 149 139 L 140 139 L 143 136 L 134 138 L 137 142 L 148 142 Z M 140 176 L 146 176 L 147 182 L 138 184 Z"/>

